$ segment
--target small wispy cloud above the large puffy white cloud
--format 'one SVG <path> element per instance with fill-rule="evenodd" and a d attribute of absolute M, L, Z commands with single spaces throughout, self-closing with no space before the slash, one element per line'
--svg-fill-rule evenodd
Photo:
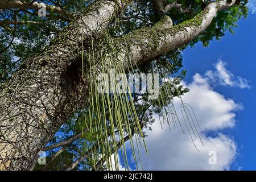
<path fill-rule="evenodd" d="M 250 89 L 250 85 L 245 78 L 240 76 L 234 76 L 232 72 L 226 69 L 227 63 L 223 62 L 222 60 L 218 60 L 215 64 L 216 71 L 207 71 L 205 73 L 205 78 L 207 78 L 213 84 L 219 85 L 228 85 L 233 87 L 238 87 L 241 89 Z"/>

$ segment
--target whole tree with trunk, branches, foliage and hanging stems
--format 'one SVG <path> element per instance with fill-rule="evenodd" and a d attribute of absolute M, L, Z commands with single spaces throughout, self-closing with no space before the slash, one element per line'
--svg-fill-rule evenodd
<path fill-rule="evenodd" d="M 34 169 L 41 150 L 49 162 L 35 169 L 110 168 L 119 148 L 127 167 L 121 146 L 130 140 L 134 149 L 134 135 L 143 140 L 153 113 L 185 132 L 172 105 L 188 91 L 180 86 L 181 51 L 233 32 L 246 3 L 0 1 L 0 169 Z M 112 68 L 159 73 L 158 100 L 95 94 L 98 74 Z M 184 120 L 187 133 L 196 134 L 195 120 Z"/>

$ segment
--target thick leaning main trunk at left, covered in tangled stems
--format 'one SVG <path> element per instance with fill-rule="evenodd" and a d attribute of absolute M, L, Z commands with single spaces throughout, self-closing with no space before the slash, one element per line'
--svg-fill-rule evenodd
<path fill-rule="evenodd" d="M 98 1 L 0 88 L 0 169 L 28 169 L 86 97 L 77 62 L 83 40 L 97 38 L 126 2 Z"/>

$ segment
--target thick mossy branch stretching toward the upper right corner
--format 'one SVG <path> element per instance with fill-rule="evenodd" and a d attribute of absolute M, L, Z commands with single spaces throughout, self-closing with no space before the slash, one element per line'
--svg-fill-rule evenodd
<path fill-rule="evenodd" d="M 166 26 L 166 23 L 159 22 L 152 28 L 143 28 L 117 39 L 115 44 L 119 49 L 118 57 L 121 59 L 119 64 L 127 68 L 139 66 L 156 56 L 187 44 L 207 29 L 217 11 L 228 9 L 235 2 L 236 0 L 212 2 L 195 18 L 177 26 L 170 27 Z M 170 18 L 166 16 L 165 19 Z M 126 53 L 127 49 L 130 50 L 129 54 Z"/>

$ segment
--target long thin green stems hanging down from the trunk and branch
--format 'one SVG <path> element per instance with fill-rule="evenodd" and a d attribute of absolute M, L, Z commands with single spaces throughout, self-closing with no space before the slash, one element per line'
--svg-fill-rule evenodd
<path fill-rule="evenodd" d="M 114 160 L 114 167 L 118 170 L 119 154 L 121 153 L 124 167 L 125 169 L 129 169 L 126 150 L 126 148 L 129 148 L 135 160 L 137 169 L 143 169 L 140 148 L 144 148 L 147 154 L 147 147 L 142 132 L 142 119 L 146 111 L 143 113 L 142 118 L 138 118 L 133 94 L 131 94 L 132 90 L 130 90 L 130 88 L 127 88 L 127 93 L 117 92 L 100 94 L 97 92 L 99 82 L 96 78 L 99 72 L 109 73 L 110 69 L 114 69 L 118 73 L 127 73 L 123 64 L 116 64 L 120 58 L 117 54 L 113 53 L 118 50 L 115 48 L 114 41 L 108 31 L 106 31 L 104 41 L 105 44 L 101 44 L 100 50 L 99 47 L 92 42 L 92 47 L 88 48 L 88 51 L 86 52 L 84 51 L 84 46 L 82 44 L 82 77 L 86 77 L 90 82 L 89 100 L 87 103 L 88 107 L 86 107 L 85 111 L 86 119 L 84 127 L 86 127 L 89 132 L 89 142 L 94 141 L 94 143 L 92 142 L 92 147 L 90 147 L 93 166 L 96 168 L 96 164 L 100 163 L 102 166 L 106 162 L 108 169 L 113 169 L 112 160 Z M 104 47 L 104 45 L 106 46 Z M 99 52 L 100 55 L 98 55 Z M 126 53 L 129 53 L 129 51 L 127 50 Z M 90 74 L 85 75 L 84 69 L 88 69 Z M 129 72 L 136 71 L 138 71 L 136 67 L 131 67 L 129 69 Z M 162 122 L 167 122 L 170 129 L 171 124 L 174 126 L 179 125 L 182 133 L 185 134 L 183 125 L 176 112 L 173 99 L 168 101 L 166 98 L 168 94 L 172 94 L 171 90 L 163 88 L 163 92 L 159 92 L 158 99 L 153 101 L 155 105 L 160 107 L 159 121 L 161 126 Z M 197 121 L 192 107 L 184 103 L 181 97 L 180 100 L 180 111 L 183 116 L 185 127 L 187 128 L 196 150 L 199 151 L 193 139 L 193 136 L 200 138 L 197 130 L 197 127 L 200 129 L 199 122 Z M 130 147 L 129 145 L 125 145 L 127 140 L 129 140 Z M 200 141 L 203 144 L 201 138 Z M 99 156 L 101 158 L 100 161 Z"/>

